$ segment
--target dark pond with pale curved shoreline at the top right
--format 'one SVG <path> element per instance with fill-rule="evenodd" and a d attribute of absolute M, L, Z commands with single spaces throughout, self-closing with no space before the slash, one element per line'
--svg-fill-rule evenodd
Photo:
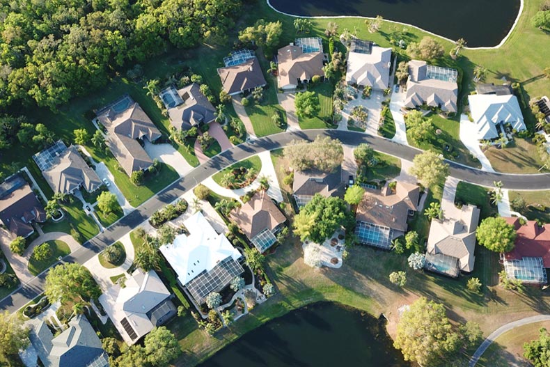
<path fill-rule="evenodd" d="M 292 15 L 382 15 L 384 19 L 412 24 L 451 40 L 464 38 L 469 47 L 498 45 L 512 28 L 520 5 L 519 0 L 269 0 L 269 3 Z"/>

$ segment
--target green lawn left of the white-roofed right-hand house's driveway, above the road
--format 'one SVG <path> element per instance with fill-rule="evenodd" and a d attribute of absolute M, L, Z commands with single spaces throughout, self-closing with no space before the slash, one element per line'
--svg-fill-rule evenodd
<path fill-rule="evenodd" d="M 481 167 L 477 159 L 472 159 L 469 150 L 460 141 L 460 123 L 456 119 L 450 120 L 437 114 L 430 114 L 427 117 L 432 119 L 435 129 L 441 130 L 441 134 L 434 134 L 430 140 L 417 142 L 411 138 L 407 131 L 407 141 L 409 141 L 411 146 L 416 146 L 416 148 L 423 150 L 434 150 L 442 154 L 446 159 L 466 164 L 467 166 Z"/>

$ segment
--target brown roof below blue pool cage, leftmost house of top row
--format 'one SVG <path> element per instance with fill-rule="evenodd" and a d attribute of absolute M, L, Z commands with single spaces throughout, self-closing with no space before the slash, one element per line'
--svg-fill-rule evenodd
<path fill-rule="evenodd" d="M 260 61 L 258 61 L 256 56 L 248 58 L 241 63 L 231 63 L 224 68 L 219 68 L 218 75 L 221 79 L 223 90 L 229 95 L 249 92 L 258 86 L 265 86 L 267 84 L 262 68 L 260 68 Z"/>

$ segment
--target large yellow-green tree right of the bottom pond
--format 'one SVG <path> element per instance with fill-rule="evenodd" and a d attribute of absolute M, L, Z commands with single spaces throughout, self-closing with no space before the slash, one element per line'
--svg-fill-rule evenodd
<path fill-rule="evenodd" d="M 401 350 L 405 361 L 434 366 L 457 351 L 458 341 L 445 307 L 421 297 L 401 315 L 393 346 Z"/>

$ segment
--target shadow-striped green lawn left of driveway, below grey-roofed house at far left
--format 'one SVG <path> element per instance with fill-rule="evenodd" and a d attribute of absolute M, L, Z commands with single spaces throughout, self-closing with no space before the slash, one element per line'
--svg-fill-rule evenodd
<path fill-rule="evenodd" d="M 70 233 L 72 225 L 84 237 L 84 240 L 90 240 L 92 237 L 97 235 L 97 233 L 100 233 L 95 221 L 86 215 L 84 210 L 81 208 L 80 201 L 74 200 L 72 203 L 63 203 L 62 207 L 65 212 L 65 217 L 63 220 L 58 222 L 48 220 L 42 225 L 42 231 L 45 233 Z"/>

